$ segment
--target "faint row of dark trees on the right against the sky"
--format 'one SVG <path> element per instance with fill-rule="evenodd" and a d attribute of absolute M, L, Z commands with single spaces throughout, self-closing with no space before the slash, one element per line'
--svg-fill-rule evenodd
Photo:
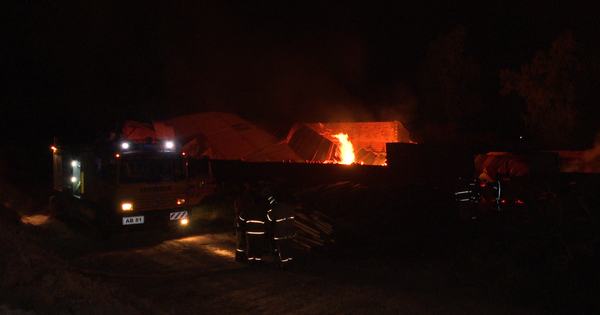
<path fill-rule="evenodd" d="M 458 26 L 429 45 L 417 76 L 420 111 L 436 125 L 430 141 L 490 140 L 494 124 L 504 140 L 540 149 L 590 146 L 597 127 L 597 62 L 564 31 L 520 69 L 501 69 L 500 102 L 485 104 L 480 64 L 465 49 L 467 28 Z M 486 138 L 487 137 L 487 138 Z M 514 143 L 516 143 L 514 142 Z"/>

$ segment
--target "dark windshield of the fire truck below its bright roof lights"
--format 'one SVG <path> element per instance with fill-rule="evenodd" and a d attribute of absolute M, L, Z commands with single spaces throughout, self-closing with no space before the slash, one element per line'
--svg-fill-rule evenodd
<path fill-rule="evenodd" d="M 185 179 L 180 155 L 128 156 L 121 160 L 121 183 L 146 183 Z"/>

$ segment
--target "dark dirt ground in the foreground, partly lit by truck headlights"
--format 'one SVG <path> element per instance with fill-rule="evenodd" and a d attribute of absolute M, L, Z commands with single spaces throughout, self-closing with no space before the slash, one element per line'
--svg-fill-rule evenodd
<path fill-rule="evenodd" d="M 566 293 L 547 288 L 578 271 L 534 277 L 523 271 L 540 268 L 501 266 L 534 264 L 507 257 L 537 247 L 516 250 L 491 229 L 473 237 L 452 216 L 436 215 L 444 200 L 407 201 L 419 192 L 394 187 L 315 198 L 334 195 L 323 189 L 298 196 L 334 217 L 343 209 L 337 243 L 297 249 L 294 267 L 280 270 L 271 256 L 261 266 L 234 261 L 226 193 L 207 201 L 186 231 L 138 231 L 108 244 L 3 182 L 0 314 L 586 314 L 597 305 L 579 294 L 594 295 L 595 280 L 563 283 Z"/>

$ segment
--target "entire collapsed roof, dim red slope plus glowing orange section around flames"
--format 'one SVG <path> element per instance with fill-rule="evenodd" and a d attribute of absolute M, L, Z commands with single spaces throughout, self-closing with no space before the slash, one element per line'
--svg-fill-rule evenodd
<path fill-rule="evenodd" d="M 408 130 L 398 121 L 297 123 L 284 140 L 229 113 L 185 115 L 165 123 L 173 126 L 175 138 L 189 156 L 217 160 L 333 163 L 339 160 L 339 140 L 334 135 L 345 133 L 354 146 L 356 163 L 381 165 L 386 159 L 386 143 L 412 143 Z"/>

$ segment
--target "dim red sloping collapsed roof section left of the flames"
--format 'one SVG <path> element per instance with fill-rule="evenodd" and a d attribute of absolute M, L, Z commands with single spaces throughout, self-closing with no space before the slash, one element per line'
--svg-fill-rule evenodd
<path fill-rule="evenodd" d="M 229 113 L 207 112 L 169 119 L 188 156 L 247 162 L 304 162 L 285 142 Z"/>

